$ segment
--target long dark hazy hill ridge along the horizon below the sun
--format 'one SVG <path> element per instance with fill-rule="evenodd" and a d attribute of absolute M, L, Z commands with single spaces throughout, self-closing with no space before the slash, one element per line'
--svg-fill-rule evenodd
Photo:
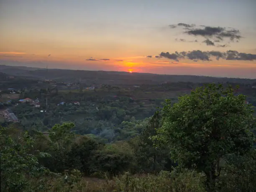
<path fill-rule="evenodd" d="M 151 73 L 128 73 L 85 71 L 71 69 L 46 69 L 33 67 L 16 67 L 0 65 L 0 72 L 44 80 L 46 78 L 64 82 L 85 82 L 88 84 L 159 84 L 161 82 L 194 82 L 194 83 L 241 83 L 255 84 L 256 79 L 240 79 L 226 77 L 207 77 L 194 75 L 161 75 Z"/>

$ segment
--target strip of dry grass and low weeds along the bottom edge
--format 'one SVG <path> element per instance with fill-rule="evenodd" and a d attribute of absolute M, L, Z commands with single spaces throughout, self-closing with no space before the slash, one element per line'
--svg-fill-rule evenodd
<path fill-rule="evenodd" d="M 44 179 L 43 179 L 44 180 Z M 72 182 L 76 180 L 77 182 Z M 66 182 L 58 177 L 44 182 L 47 192 L 205 192 L 205 176 L 195 171 L 182 173 L 160 172 L 137 174 L 128 172 L 112 179 L 76 177 L 70 175 Z M 38 180 L 34 181 L 38 184 Z"/>

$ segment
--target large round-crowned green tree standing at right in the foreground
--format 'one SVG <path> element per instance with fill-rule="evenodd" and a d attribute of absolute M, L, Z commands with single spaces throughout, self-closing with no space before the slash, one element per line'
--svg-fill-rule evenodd
<path fill-rule="evenodd" d="M 245 96 L 232 87 L 208 84 L 166 101 L 163 125 L 155 138 L 169 146 L 171 158 L 183 167 L 196 167 L 206 174 L 209 190 L 220 175 L 226 154 L 243 155 L 251 149 L 255 123 Z"/>

